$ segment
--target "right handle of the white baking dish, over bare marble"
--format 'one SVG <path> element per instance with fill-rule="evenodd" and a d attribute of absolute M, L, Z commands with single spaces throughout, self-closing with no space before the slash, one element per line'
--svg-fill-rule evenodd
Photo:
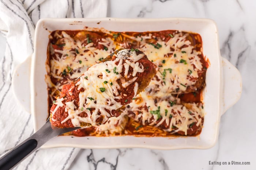
<path fill-rule="evenodd" d="M 223 112 L 233 106 L 241 97 L 242 77 L 240 72 L 227 59 L 222 58 L 223 68 Z"/>

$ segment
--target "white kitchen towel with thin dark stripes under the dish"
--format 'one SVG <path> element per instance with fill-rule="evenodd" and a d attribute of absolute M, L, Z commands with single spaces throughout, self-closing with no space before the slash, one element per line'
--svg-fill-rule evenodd
<path fill-rule="evenodd" d="M 46 17 L 106 17 L 106 13 L 107 0 L 0 0 L 0 33 L 7 39 L 0 60 L 0 157 L 33 134 L 32 116 L 17 103 L 11 80 L 15 67 L 34 51 L 37 21 Z M 40 149 L 15 169 L 68 169 L 78 152 L 77 148 Z"/>

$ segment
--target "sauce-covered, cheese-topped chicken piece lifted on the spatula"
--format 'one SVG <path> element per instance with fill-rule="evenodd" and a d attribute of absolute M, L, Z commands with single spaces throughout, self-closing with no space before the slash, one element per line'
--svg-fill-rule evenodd
<path fill-rule="evenodd" d="M 104 124 L 119 116 L 155 74 L 143 52 L 117 50 L 62 87 L 50 109 L 50 122 L 61 128 Z"/>

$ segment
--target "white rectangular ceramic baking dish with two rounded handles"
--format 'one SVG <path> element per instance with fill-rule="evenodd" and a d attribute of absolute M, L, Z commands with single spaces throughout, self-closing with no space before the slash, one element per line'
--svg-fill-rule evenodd
<path fill-rule="evenodd" d="M 97 24 L 101 21 L 99 24 Z M 221 115 L 241 96 L 242 80 L 240 72 L 220 56 L 218 30 L 214 21 L 209 19 L 166 18 L 166 19 L 41 19 L 35 29 L 35 51 L 30 58 L 18 67 L 14 74 L 14 91 L 19 101 L 30 111 L 29 94 L 19 86 L 24 79 L 31 89 L 31 114 L 34 116 L 34 130 L 37 131 L 48 116 L 47 87 L 45 83 L 45 60 L 48 35 L 56 29 L 77 30 L 85 26 L 105 28 L 111 31 L 161 31 L 175 29 L 199 33 L 203 40 L 203 53 L 210 60 L 206 74 L 206 88 L 203 92 L 204 126 L 197 137 L 72 137 L 59 136 L 43 147 L 80 147 L 80 148 L 121 148 L 143 147 L 150 149 L 207 149 L 217 141 Z M 18 76 L 19 73 L 19 76 Z M 21 90 L 22 89 L 22 90 Z"/>

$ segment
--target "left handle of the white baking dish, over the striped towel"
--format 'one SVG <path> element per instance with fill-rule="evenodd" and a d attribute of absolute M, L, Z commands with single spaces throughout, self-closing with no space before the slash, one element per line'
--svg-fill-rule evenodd
<path fill-rule="evenodd" d="M 12 90 L 23 108 L 30 113 L 31 56 L 19 64 L 12 75 Z"/>

